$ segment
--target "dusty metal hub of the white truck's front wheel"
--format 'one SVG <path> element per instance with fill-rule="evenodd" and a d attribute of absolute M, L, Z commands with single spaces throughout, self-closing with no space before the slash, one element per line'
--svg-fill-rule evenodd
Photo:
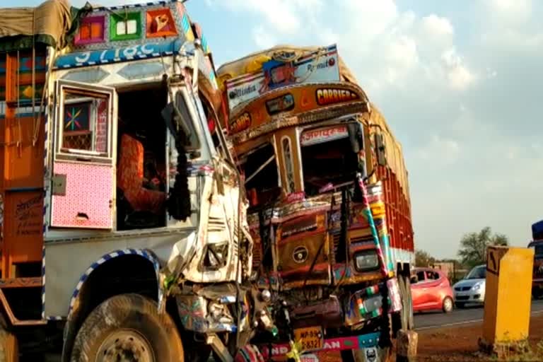
<path fill-rule="evenodd" d="M 147 339 L 132 329 L 112 332 L 98 349 L 95 362 L 155 362 Z"/>

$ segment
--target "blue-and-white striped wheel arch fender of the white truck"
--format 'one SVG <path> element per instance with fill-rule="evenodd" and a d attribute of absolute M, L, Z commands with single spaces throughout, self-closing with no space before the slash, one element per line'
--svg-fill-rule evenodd
<path fill-rule="evenodd" d="M 137 255 L 139 257 L 142 257 L 148 262 L 151 262 L 153 264 L 153 269 L 155 270 L 156 274 L 156 280 L 158 285 L 158 305 L 163 300 L 163 289 L 160 286 L 160 262 L 158 261 L 158 258 L 156 255 L 151 252 L 151 250 L 146 249 L 123 249 L 123 250 L 116 250 L 114 252 L 108 252 L 107 254 L 103 255 L 100 259 L 98 259 L 96 262 L 93 262 L 90 267 L 81 275 L 81 278 L 79 278 L 78 283 L 76 284 L 76 287 L 74 288 L 74 293 L 72 293 L 69 310 L 68 310 L 68 317 L 66 318 L 66 325 L 64 325 L 64 343 L 62 347 L 62 362 L 69 362 L 70 354 L 71 354 L 71 348 L 74 344 L 74 340 L 76 338 L 77 334 L 77 323 L 81 324 L 83 321 L 79 320 L 79 313 L 80 313 L 80 296 L 81 296 L 81 290 L 83 286 L 85 286 L 85 282 L 88 280 L 88 277 L 91 276 L 93 271 L 98 269 L 101 265 L 105 264 L 106 262 L 110 262 L 112 259 L 115 259 L 117 257 L 122 257 L 124 255 Z"/>

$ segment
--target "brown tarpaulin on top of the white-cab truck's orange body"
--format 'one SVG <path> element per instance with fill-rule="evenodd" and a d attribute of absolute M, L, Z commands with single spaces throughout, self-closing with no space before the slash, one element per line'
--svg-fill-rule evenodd
<path fill-rule="evenodd" d="M 68 0 L 47 0 L 35 8 L 0 8 L 0 51 L 37 43 L 62 48 L 71 24 Z"/>

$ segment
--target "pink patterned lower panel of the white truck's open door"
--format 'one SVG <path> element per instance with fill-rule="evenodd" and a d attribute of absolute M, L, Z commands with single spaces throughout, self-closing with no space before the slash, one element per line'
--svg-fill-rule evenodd
<path fill-rule="evenodd" d="M 52 227 L 112 228 L 112 165 L 55 162 L 53 171 L 66 176 L 66 190 L 52 196 Z"/>

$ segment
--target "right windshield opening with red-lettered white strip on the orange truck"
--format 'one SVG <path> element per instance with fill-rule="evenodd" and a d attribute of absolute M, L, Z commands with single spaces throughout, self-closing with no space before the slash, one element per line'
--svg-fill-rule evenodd
<path fill-rule="evenodd" d="M 358 155 L 351 149 L 346 127 L 338 125 L 304 132 L 300 137 L 303 185 L 307 196 L 354 181 Z"/>

